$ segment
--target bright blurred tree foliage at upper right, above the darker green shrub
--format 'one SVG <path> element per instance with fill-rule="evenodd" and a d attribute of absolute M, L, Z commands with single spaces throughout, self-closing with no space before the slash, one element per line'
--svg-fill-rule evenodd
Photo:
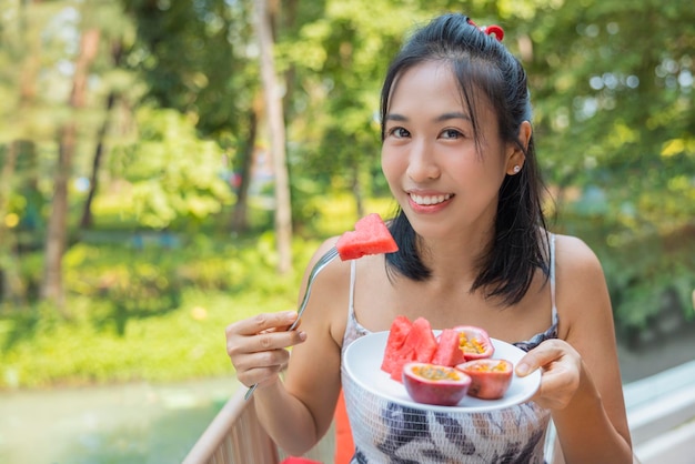
<path fill-rule="evenodd" d="M 642 232 L 695 213 L 694 20 L 687 1 L 563 2 L 512 30 L 551 180 Z"/>

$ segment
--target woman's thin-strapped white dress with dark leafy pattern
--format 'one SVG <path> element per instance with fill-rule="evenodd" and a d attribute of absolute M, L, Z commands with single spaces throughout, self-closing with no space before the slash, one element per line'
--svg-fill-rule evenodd
<path fill-rule="evenodd" d="M 514 343 L 524 351 L 557 337 L 554 239 L 551 235 L 552 325 L 528 341 Z M 355 272 L 353 261 L 343 353 L 350 343 L 370 333 L 354 313 Z M 355 444 L 351 464 L 544 462 L 550 411 L 534 402 L 490 412 L 443 413 L 404 406 L 372 394 L 354 384 L 344 370 L 342 383 Z"/>

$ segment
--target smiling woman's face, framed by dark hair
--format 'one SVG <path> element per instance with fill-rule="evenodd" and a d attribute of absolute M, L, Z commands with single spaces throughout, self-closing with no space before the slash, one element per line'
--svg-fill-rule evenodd
<path fill-rule="evenodd" d="M 384 121 L 382 170 L 411 224 L 425 239 L 472 230 L 487 233 L 500 185 L 520 161 L 514 145 L 500 139 L 487 99 L 482 93 L 473 98 L 477 143 L 471 112 L 447 63 L 424 62 L 394 82 Z"/>

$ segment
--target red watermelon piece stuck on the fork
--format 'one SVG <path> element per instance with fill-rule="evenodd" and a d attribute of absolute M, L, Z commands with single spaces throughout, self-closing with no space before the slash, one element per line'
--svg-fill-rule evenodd
<path fill-rule="evenodd" d="M 335 243 L 340 259 L 356 260 L 366 254 L 393 253 L 399 245 L 389 228 L 376 213 L 367 214 L 355 223 L 354 231 L 344 232 Z"/>

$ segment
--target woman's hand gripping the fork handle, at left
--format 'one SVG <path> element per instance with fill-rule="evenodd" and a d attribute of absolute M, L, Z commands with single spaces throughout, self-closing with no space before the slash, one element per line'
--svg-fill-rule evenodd
<path fill-rule="evenodd" d="M 295 320 L 296 311 L 262 313 L 226 326 L 226 354 L 241 383 L 262 389 L 278 381 L 290 359 L 286 349 L 306 339 L 302 331 L 286 331 Z"/>

